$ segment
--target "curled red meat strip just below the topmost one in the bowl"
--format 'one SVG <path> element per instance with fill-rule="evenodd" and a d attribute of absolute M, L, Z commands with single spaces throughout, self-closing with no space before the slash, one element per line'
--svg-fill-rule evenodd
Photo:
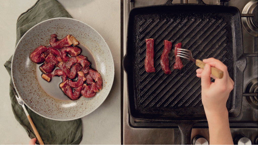
<path fill-rule="evenodd" d="M 70 59 L 70 57 L 67 54 L 69 54 L 71 57 L 75 57 L 79 55 L 81 51 L 82 50 L 76 46 L 68 46 L 66 48 L 62 48 L 61 54 L 63 62 L 68 62 L 68 60 Z"/>

